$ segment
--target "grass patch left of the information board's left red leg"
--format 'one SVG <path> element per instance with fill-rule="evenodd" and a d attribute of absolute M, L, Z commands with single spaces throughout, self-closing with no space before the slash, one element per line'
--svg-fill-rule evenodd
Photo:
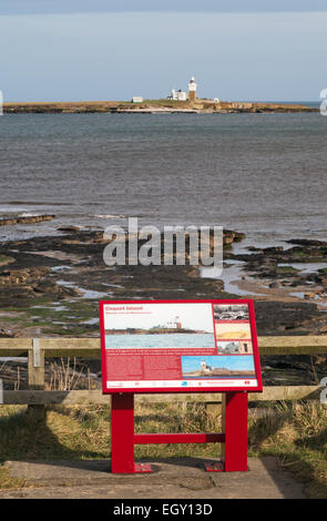
<path fill-rule="evenodd" d="M 27 407 L 1 408 L 0 453 L 4 460 L 108 458 L 109 410 L 93 406 L 51 408 L 47 417 Z"/>

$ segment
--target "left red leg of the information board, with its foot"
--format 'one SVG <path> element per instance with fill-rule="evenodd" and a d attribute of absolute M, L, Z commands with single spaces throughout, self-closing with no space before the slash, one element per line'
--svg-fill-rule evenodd
<path fill-rule="evenodd" d="M 134 395 L 112 395 L 111 471 L 151 472 L 150 464 L 134 462 Z"/>

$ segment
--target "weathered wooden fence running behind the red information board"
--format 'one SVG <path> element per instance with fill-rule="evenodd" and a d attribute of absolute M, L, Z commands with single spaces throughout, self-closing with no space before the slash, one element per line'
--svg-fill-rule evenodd
<path fill-rule="evenodd" d="M 258 345 L 260 356 L 327 354 L 327 336 L 259 337 Z M 51 403 L 110 405 L 110 397 L 103 396 L 101 390 L 44 390 L 45 358 L 100 358 L 100 356 L 99 338 L 1 338 L 0 357 L 28 357 L 29 390 L 3 390 L 0 387 L 0 403 L 29 405 L 30 407 Z M 320 391 L 321 387 L 319 385 L 265 387 L 263 394 L 249 394 L 249 401 L 317 399 Z M 136 402 L 139 403 L 178 401 L 218 405 L 221 400 L 222 396 L 219 394 L 136 396 Z"/>

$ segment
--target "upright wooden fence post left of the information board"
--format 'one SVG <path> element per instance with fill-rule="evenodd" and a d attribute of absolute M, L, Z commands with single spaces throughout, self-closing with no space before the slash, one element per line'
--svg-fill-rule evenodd
<path fill-rule="evenodd" d="M 44 350 L 40 349 L 40 339 L 33 338 L 33 348 L 29 350 L 29 389 L 44 390 Z M 29 405 L 28 413 L 35 419 L 45 416 L 44 405 Z"/>

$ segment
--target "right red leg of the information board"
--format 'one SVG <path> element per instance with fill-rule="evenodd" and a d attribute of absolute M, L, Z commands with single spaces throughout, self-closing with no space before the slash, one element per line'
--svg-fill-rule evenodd
<path fill-rule="evenodd" d="M 225 472 L 247 470 L 247 392 L 226 392 L 223 400 Z"/>

